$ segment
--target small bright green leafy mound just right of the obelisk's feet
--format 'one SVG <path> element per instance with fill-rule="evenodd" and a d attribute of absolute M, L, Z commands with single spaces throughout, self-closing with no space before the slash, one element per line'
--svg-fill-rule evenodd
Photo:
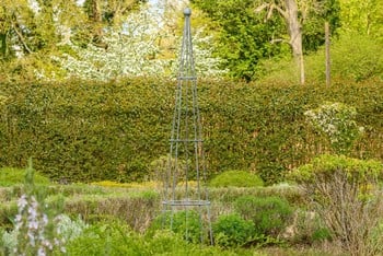
<path fill-rule="evenodd" d="M 254 223 L 239 214 L 220 216 L 212 224 L 214 243 L 223 247 L 236 247 L 254 237 Z"/>

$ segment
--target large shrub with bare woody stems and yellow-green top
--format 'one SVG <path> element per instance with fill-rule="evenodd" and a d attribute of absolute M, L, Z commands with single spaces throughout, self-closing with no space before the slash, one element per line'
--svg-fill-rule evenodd
<path fill-rule="evenodd" d="M 326 223 L 332 236 L 357 255 L 373 255 L 371 236 L 379 225 L 383 164 L 345 155 L 321 155 L 291 177 L 301 186 L 309 206 Z"/>

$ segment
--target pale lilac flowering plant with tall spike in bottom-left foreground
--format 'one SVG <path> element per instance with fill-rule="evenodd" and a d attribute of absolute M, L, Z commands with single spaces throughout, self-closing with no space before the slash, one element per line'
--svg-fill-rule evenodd
<path fill-rule="evenodd" d="M 18 200 L 12 232 L 2 234 L 4 252 L 11 255 L 49 255 L 66 253 L 67 241 L 79 236 L 86 225 L 79 219 L 59 214 L 50 217 L 44 195 L 33 182 L 32 161 L 26 170 L 24 194 Z"/>

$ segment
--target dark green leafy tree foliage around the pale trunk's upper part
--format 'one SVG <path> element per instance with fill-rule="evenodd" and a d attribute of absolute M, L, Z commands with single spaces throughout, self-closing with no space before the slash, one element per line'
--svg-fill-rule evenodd
<path fill-rule="evenodd" d="M 268 8 L 257 8 L 270 1 L 254 0 L 193 0 L 220 28 L 217 55 L 227 60 L 230 75 L 245 80 L 258 79 L 258 63 L 263 59 L 290 56 L 288 31 L 283 16 Z M 276 4 L 283 9 L 283 1 Z M 310 53 L 324 44 L 324 22 L 335 31 L 339 27 L 339 2 L 326 0 L 298 3 L 303 31 L 303 47 Z"/>

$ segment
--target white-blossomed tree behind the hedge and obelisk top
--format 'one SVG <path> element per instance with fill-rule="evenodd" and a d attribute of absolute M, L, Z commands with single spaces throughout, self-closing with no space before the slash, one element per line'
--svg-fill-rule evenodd
<path fill-rule="evenodd" d="M 160 15 L 142 4 L 137 12 L 130 13 L 121 26 L 105 30 L 105 47 L 92 43 L 86 47 L 70 44 L 73 54 L 54 57 L 67 70 L 68 77 L 85 80 L 107 81 L 124 77 L 171 75 L 177 70 L 177 54 L 181 36 L 170 34 L 161 22 Z M 220 77 L 227 71 L 221 69 L 222 60 L 212 57 L 212 38 L 204 35 L 204 28 L 194 33 L 194 53 L 196 69 L 200 77 Z M 163 48 L 160 40 L 173 37 L 174 44 Z"/>

